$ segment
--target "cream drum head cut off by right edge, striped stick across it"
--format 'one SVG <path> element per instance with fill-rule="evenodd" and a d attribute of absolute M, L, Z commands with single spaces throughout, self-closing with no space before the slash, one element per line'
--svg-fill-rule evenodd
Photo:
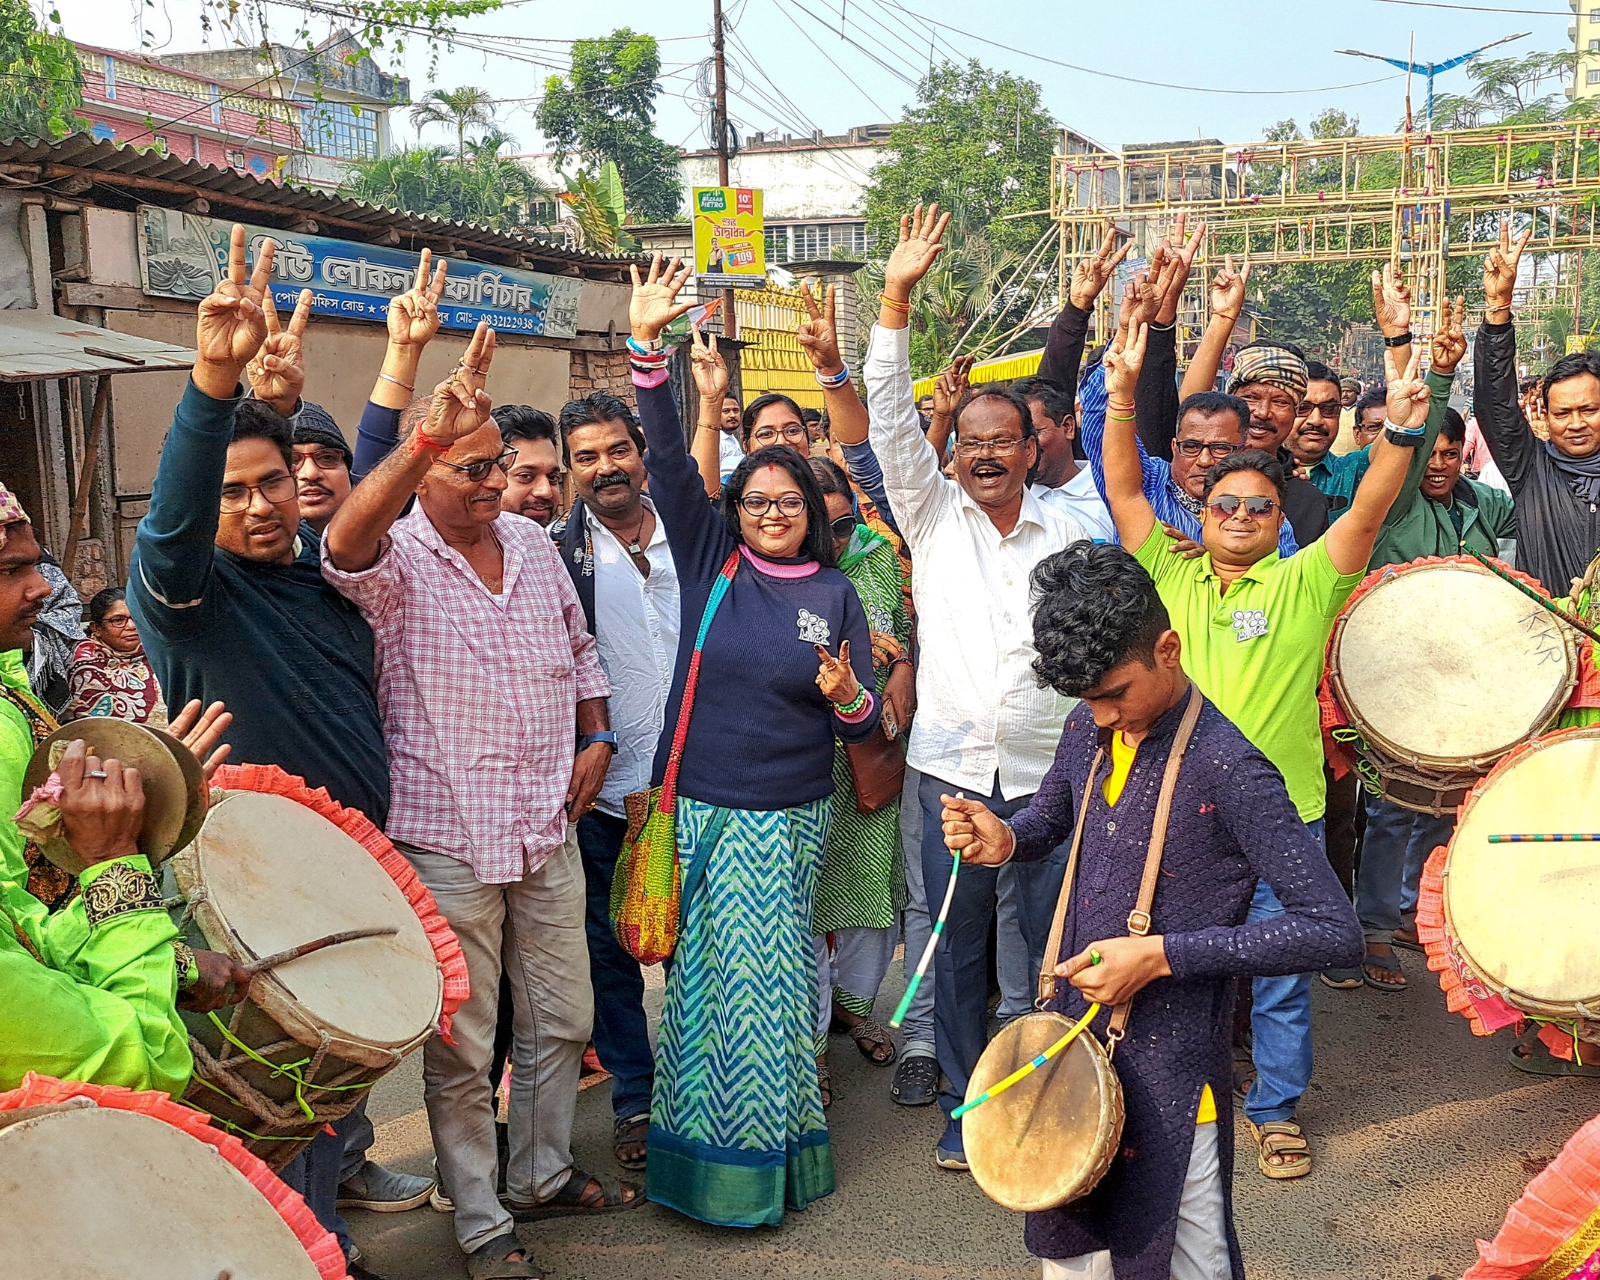
<path fill-rule="evenodd" d="M 1450 933 L 1493 992 L 1523 1013 L 1600 1006 L 1600 843 L 1488 842 L 1510 832 L 1600 832 L 1600 730 L 1507 760 L 1467 803 L 1445 864 Z"/>

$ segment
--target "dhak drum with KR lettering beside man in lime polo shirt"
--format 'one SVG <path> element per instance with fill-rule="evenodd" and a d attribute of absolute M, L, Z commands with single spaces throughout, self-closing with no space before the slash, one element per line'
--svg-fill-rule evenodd
<path fill-rule="evenodd" d="M 1421 813 L 1453 813 L 1576 682 L 1568 627 L 1464 557 L 1374 571 L 1328 640 L 1328 686 L 1349 720 L 1334 736 L 1368 786 Z"/>

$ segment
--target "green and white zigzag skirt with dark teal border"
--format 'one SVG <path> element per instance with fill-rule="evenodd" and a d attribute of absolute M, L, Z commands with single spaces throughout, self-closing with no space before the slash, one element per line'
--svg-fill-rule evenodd
<path fill-rule="evenodd" d="M 667 973 L 650 1110 L 646 1190 L 725 1227 L 782 1222 L 834 1190 L 811 1056 L 811 894 L 832 800 L 730 810 L 685 904 Z M 678 797 L 688 864 L 715 808 Z"/>

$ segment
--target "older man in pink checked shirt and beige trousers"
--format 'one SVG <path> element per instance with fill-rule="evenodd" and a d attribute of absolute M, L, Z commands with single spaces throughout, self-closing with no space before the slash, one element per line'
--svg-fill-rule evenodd
<path fill-rule="evenodd" d="M 378 646 L 387 834 L 467 957 L 454 1045 L 424 1048 L 424 1099 L 456 1240 L 477 1274 L 538 1275 L 514 1221 L 605 1213 L 638 1189 L 573 1165 L 578 1074 L 594 1019 L 584 872 L 565 845 L 616 750 L 610 686 L 549 534 L 501 518 L 514 458 L 490 418 L 494 333 L 400 419 L 400 443 L 323 538 L 323 574 Z M 402 517 L 406 499 L 414 509 Z M 576 754 L 574 754 L 576 742 Z M 488 1082 L 501 970 L 515 1006 L 510 1160 L 496 1195 Z"/>

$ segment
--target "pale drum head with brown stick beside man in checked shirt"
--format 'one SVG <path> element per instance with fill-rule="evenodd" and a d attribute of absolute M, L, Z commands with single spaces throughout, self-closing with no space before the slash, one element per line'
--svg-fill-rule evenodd
<path fill-rule="evenodd" d="M 422 922 L 378 859 L 326 818 L 285 795 L 230 792 L 200 827 L 194 858 L 229 933 L 213 946 L 232 944 L 246 963 L 341 930 L 400 930 L 256 979 L 277 982 L 333 1034 L 405 1046 L 437 1021 L 443 979 Z"/>

